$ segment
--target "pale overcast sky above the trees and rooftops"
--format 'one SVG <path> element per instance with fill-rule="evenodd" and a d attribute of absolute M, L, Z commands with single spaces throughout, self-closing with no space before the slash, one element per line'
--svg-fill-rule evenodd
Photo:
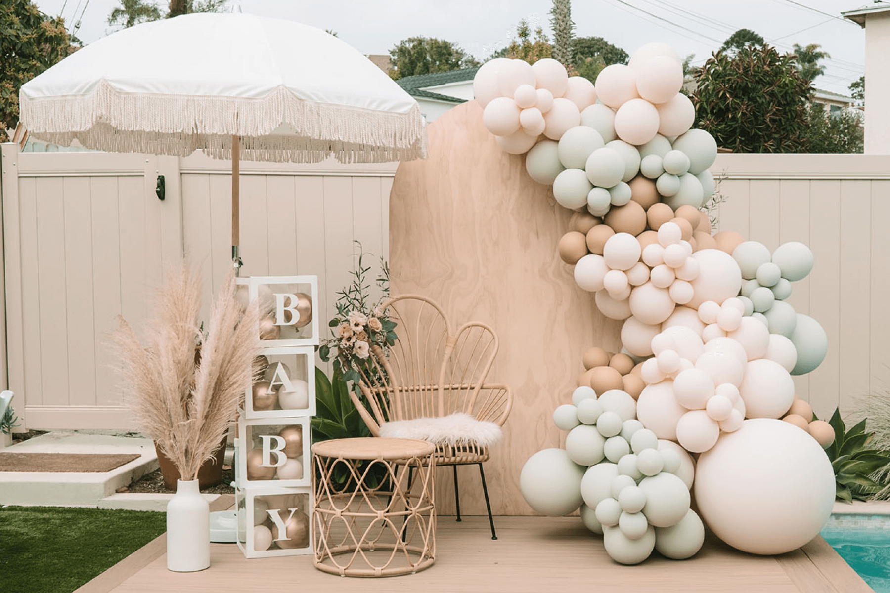
<path fill-rule="evenodd" d="M 109 35 L 119 0 L 34 0 L 46 14 L 65 18 L 85 43 Z M 166 4 L 166 0 L 158 0 Z M 840 17 L 870 0 L 575 0 L 576 36 L 600 36 L 633 54 L 650 42 L 670 44 L 681 56 L 707 60 L 726 37 L 749 28 L 781 51 L 821 44 L 831 58 L 817 88 L 849 94 L 865 72 L 865 31 Z M 385 54 L 401 39 L 434 36 L 480 60 L 515 36 L 519 20 L 549 33 L 550 0 L 230 0 L 243 12 L 332 29 L 365 54 Z"/>

